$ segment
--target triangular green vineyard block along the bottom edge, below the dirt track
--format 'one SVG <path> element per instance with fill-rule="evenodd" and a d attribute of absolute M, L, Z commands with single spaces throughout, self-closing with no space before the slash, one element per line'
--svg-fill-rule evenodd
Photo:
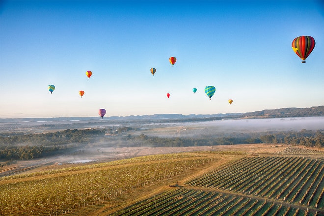
<path fill-rule="evenodd" d="M 172 189 L 154 197 L 136 203 L 112 216 L 170 216 L 170 215 L 308 215 L 320 216 L 316 212 L 308 212 L 276 205 L 272 202 L 260 201 L 241 196 L 205 191 L 200 189 Z"/>

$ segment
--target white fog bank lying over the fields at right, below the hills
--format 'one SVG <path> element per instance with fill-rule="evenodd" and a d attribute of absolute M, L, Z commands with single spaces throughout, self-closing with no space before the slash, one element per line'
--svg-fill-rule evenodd
<path fill-rule="evenodd" d="M 300 130 L 324 130 L 324 117 L 229 119 L 194 123 L 159 124 L 156 130 L 146 126 L 146 135 L 163 137 L 176 136 L 217 136 L 233 133 L 288 132 Z"/>

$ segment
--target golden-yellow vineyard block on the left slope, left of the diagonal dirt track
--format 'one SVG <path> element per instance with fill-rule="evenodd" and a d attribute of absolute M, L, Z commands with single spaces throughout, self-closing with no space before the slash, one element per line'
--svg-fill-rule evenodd
<path fill-rule="evenodd" d="M 185 158 L 106 167 L 33 181 L 0 182 L 0 215 L 62 215 L 211 162 Z"/>

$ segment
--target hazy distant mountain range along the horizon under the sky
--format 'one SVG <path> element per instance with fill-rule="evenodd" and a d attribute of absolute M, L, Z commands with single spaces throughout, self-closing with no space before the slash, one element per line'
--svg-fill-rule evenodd
<path fill-rule="evenodd" d="M 311 108 L 279 108 L 265 109 L 262 111 L 246 113 L 226 114 L 154 114 L 154 115 L 130 115 L 130 116 L 109 116 L 105 120 L 162 120 L 162 119 L 233 119 L 233 118 L 288 118 L 288 117 L 311 117 L 324 116 L 324 106 Z M 0 122 L 24 122 L 24 121 L 97 121 L 99 117 L 56 117 L 56 118 L 0 118 Z"/>

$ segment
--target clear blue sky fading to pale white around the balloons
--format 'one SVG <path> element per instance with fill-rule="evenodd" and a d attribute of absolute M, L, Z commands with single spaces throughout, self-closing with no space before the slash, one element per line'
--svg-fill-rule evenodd
<path fill-rule="evenodd" d="M 0 7 L 0 118 L 324 105 L 323 1 L 1 0 Z M 301 35 L 316 41 L 306 63 L 291 47 Z M 212 100 L 207 85 L 216 87 Z"/>

